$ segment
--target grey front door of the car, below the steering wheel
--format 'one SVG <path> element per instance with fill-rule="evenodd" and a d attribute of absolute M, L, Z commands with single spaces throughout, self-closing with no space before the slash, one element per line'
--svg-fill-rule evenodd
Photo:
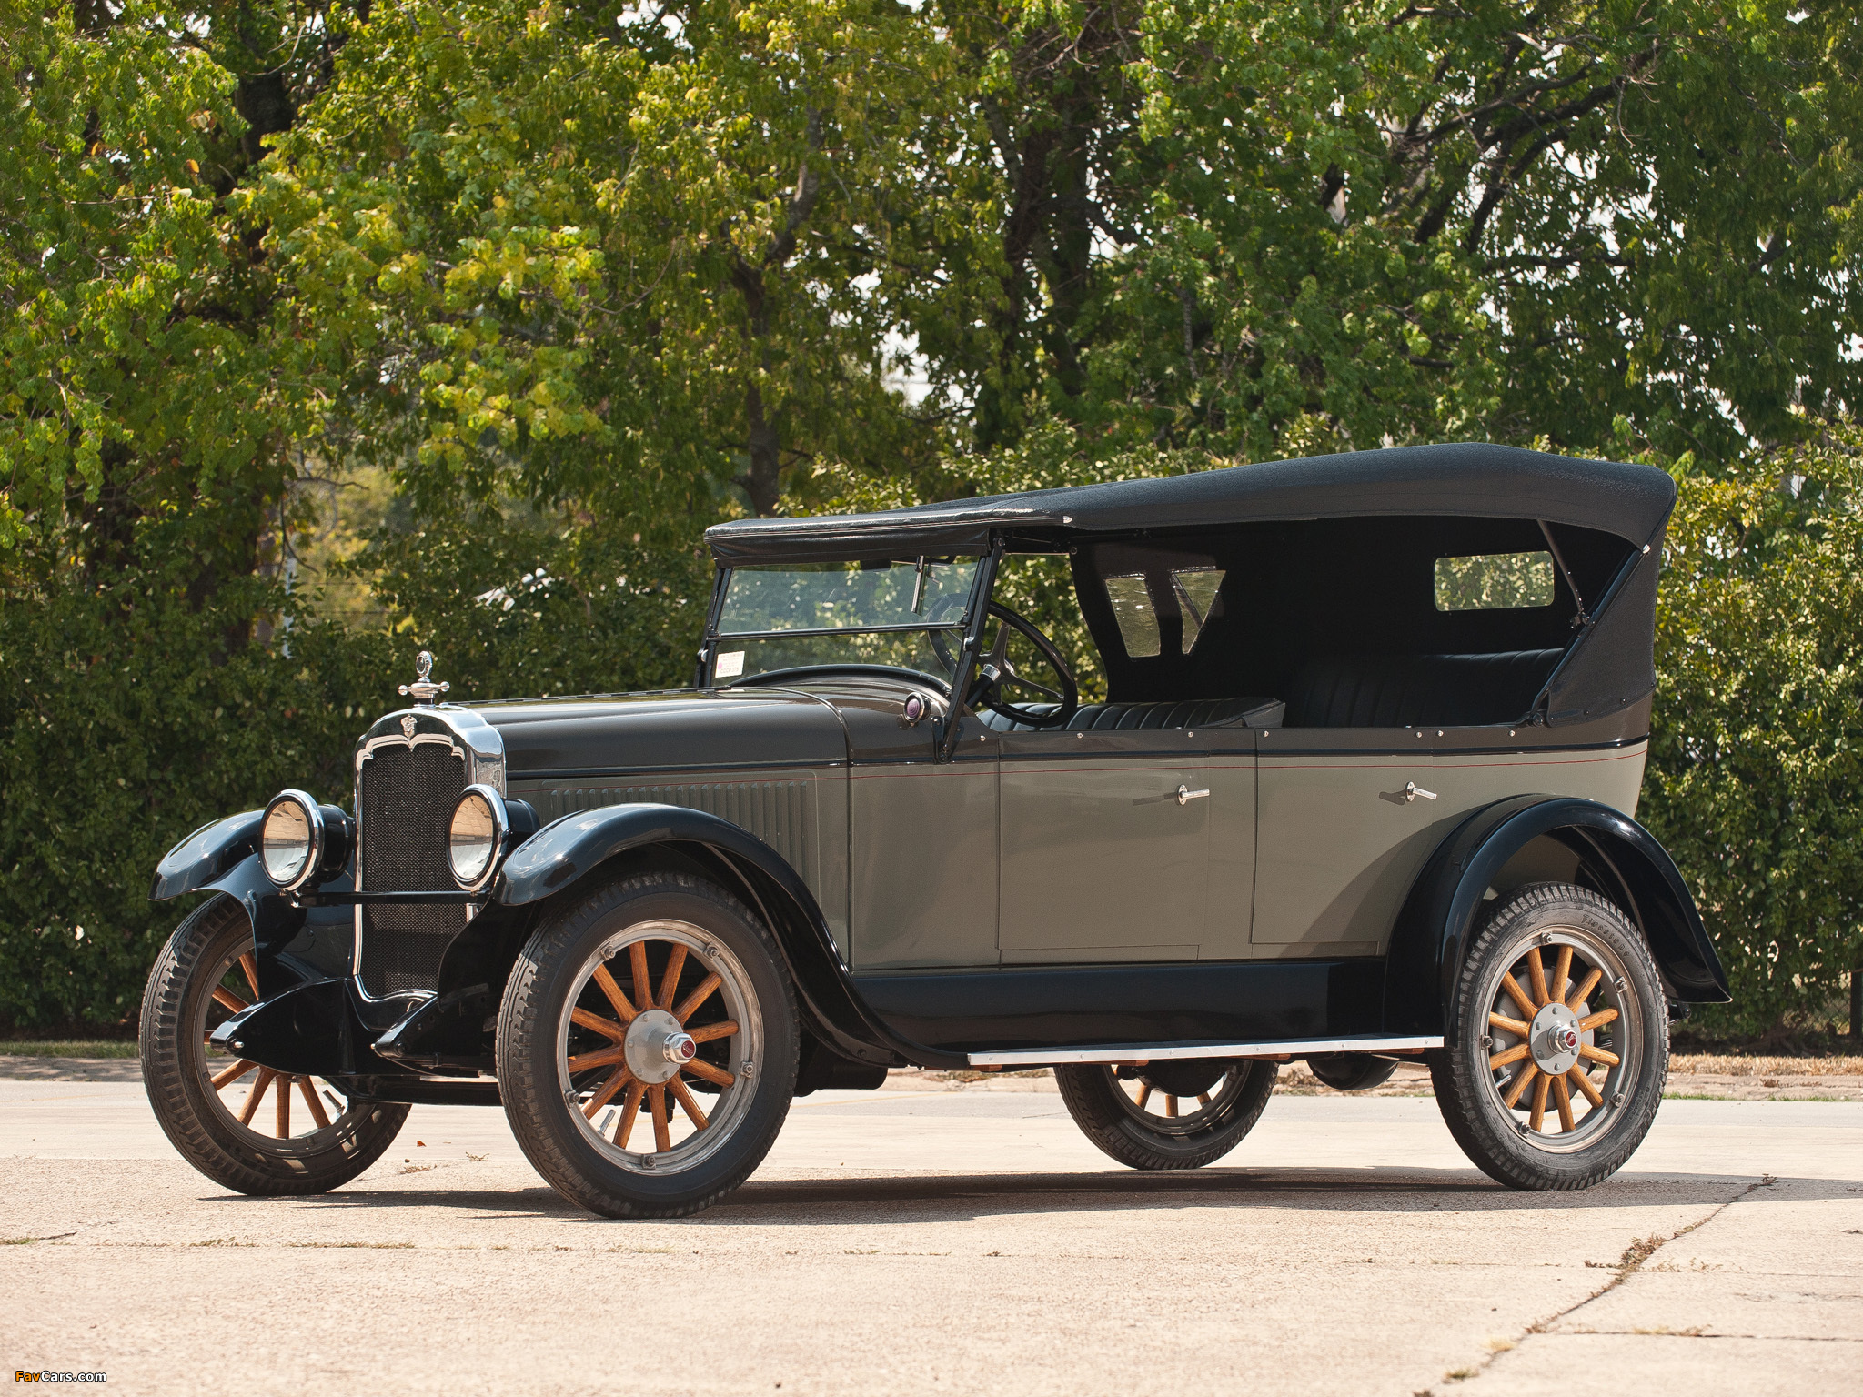
<path fill-rule="evenodd" d="M 1170 728 L 993 738 L 1002 961 L 1196 959 L 1209 902 L 1209 754 Z"/>

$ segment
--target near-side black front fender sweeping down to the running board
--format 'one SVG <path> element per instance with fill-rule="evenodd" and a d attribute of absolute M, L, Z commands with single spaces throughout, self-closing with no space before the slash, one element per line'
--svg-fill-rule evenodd
<path fill-rule="evenodd" d="M 546 825 L 505 861 L 494 905 L 524 907 L 579 885 L 630 853 L 665 849 L 740 892 L 782 948 L 805 1028 L 844 1056 L 872 1065 L 967 1067 L 961 1052 L 894 1034 L 866 1006 L 809 885 L 747 829 L 678 805 L 609 805 Z"/>

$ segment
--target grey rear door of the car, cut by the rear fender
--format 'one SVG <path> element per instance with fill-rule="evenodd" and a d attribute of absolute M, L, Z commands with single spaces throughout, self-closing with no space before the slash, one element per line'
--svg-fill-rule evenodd
<path fill-rule="evenodd" d="M 1438 842 L 1421 730 L 1278 728 L 1258 741 L 1256 954 L 1379 954 Z"/>

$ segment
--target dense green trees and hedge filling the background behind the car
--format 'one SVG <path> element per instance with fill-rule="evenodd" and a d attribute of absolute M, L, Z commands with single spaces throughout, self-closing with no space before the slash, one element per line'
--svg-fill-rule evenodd
<path fill-rule="evenodd" d="M 415 641 L 460 697 L 684 682 L 717 518 L 1543 438 L 1693 462 L 1651 810 L 1740 1023 L 1790 1021 L 1854 950 L 1859 45 L 1783 0 L 0 0 L 0 959 L 121 937 L 0 1015 L 108 1017 L 162 918 L 93 851 L 341 793 Z M 283 585 L 360 468 L 386 631 Z M 1742 674 L 1829 723 L 1742 769 Z"/>

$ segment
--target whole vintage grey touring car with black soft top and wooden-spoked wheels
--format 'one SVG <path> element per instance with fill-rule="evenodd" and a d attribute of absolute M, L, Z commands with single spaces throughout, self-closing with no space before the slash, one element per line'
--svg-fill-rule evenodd
<path fill-rule="evenodd" d="M 484 1103 L 576 1203 L 673 1216 L 889 1067 L 1053 1067 L 1190 1168 L 1280 1062 L 1421 1056 L 1489 1175 L 1597 1183 L 1727 998 L 1634 820 L 1673 501 L 1474 443 L 714 527 L 691 689 L 449 704 L 423 656 L 352 810 L 175 846 L 153 896 L 218 896 L 151 972 L 149 1097 L 244 1192 Z"/>

